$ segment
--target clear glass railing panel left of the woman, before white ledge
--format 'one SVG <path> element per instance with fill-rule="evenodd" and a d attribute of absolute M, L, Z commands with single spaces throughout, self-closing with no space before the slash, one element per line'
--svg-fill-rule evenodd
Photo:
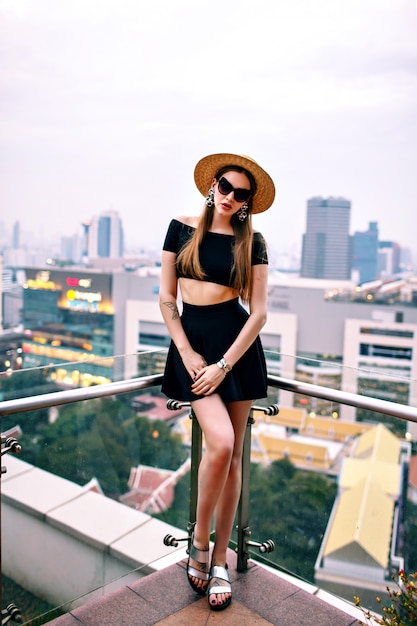
<path fill-rule="evenodd" d="M 142 369 L 153 376 L 154 358 L 146 367 L 141 354 L 130 358 L 132 374 Z M 121 359 L 119 365 L 126 371 Z M 13 372 L 2 387 L 3 405 L 23 390 L 34 397 L 70 391 L 62 382 L 51 389 L 55 371 Z M 160 386 L 148 385 L 2 415 L 2 453 L 4 439 L 21 446 L 20 454 L 2 454 L 2 601 L 19 607 L 23 623 L 42 613 L 49 621 L 146 575 L 175 550 L 163 543 L 169 532 L 178 536 L 164 521 L 164 510 L 171 508 L 173 517 L 177 485 L 184 485 L 189 471 L 190 418 L 188 409 L 170 411 L 166 405 Z M 184 498 L 188 491 L 183 488 Z M 135 538 L 133 553 L 129 535 Z"/>

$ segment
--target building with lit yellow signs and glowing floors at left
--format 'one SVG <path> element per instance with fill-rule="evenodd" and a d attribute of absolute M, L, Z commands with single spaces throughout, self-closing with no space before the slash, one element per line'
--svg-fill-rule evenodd
<path fill-rule="evenodd" d="M 114 380 L 113 276 L 94 269 L 25 269 L 23 366 L 60 363 L 57 381 L 76 385 Z M 97 357 L 100 357 L 97 359 Z"/>

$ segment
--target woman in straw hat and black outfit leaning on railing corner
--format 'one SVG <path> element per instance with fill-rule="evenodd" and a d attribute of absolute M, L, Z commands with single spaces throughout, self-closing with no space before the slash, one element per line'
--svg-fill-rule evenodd
<path fill-rule="evenodd" d="M 191 402 L 204 434 L 187 575 L 218 611 L 232 600 L 226 552 L 241 490 L 248 415 L 252 402 L 267 395 L 259 332 L 266 321 L 268 260 L 251 217 L 271 206 L 275 187 L 255 161 L 235 154 L 201 159 L 194 179 L 207 196 L 204 210 L 200 217 L 171 221 L 162 253 L 159 301 L 172 338 L 162 391 Z"/>

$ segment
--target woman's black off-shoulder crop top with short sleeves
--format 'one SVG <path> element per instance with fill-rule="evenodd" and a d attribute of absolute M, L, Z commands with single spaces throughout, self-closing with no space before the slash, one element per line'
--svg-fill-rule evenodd
<path fill-rule="evenodd" d="M 163 249 L 168 252 L 178 253 L 192 237 L 195 228 L 173 219 L 169 224 Z M 204 272 L 204 280 L 219 285 L 231 286 L 231 271 L 233 267 L 233 244 L 234 235 L 222 235 L 210 233 L 204 237 L 200 246 L 200 264 Z M 252 265 L 267 265 L 268 255 L 266 243 L 261 233 L 253 234 L 252 242 Z M 177 266 L 178 278 L 193 278 L 182 273 Z"/>

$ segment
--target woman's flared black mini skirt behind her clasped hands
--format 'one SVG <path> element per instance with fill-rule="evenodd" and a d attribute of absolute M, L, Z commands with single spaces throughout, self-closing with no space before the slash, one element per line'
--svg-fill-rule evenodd
<path fill-rule="evenodd" d="M 184 303 L 181 321 L 192 348 L 210 365 L 223 357 L 248 317 L 249 314 L 236 298 L 208 306 Z M 204 396 L 192 393 L 192 382 L 177 348 L 171 341 L 162 392 L 169 398 L 182 402 L 203 398 Z M 253 401 L 267 397 L 266 363 L 259 337 L 226 375 L 216 393 L 224 402 Z"/>

